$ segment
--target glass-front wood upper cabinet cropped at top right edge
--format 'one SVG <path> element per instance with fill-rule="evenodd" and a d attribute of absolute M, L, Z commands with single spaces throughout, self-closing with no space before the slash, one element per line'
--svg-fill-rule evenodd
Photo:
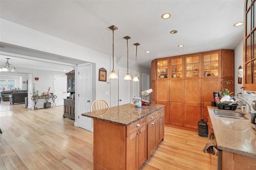
<path fill-rule="evenodd" d="M 255 90 L 256 84 L 256 1 L 245 0 L 244 87 Z"/>

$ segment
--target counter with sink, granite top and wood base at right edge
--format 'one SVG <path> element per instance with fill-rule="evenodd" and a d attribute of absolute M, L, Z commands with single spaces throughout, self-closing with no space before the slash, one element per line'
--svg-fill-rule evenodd
<path fill-rule="evenodd" d="M 208 106 L 209 123 L 217 147 L 222 150 L 222 169 L 256 169 L 256 131 L 251 128 L 250 116 L 245 115 L 246 119 L 218 117 L 214 110 L 220 109 Z"/>

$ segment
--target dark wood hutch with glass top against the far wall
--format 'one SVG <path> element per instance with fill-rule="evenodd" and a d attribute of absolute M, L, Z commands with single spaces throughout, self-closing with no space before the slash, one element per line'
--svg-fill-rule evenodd
<path fill-rule="evenodd" d="M 75 73 L 65 73 L 67 75 L 67 92 L 75 92 Z M 75 119 L 75 100 L 74 98 L 64 99 L 64 110 L 62 117 Z"/>

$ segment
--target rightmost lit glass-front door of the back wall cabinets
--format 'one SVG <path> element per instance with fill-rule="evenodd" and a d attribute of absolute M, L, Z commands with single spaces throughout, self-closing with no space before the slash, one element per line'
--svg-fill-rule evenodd
<path fill-rule="evenodd" d="M 202 78 L 220 77 L 220 51 L 213 51 L 202 54 Z"/>

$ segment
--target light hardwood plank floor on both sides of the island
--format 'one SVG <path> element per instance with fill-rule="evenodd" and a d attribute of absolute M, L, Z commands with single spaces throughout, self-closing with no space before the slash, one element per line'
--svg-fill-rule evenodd
<path fill-rule="evenodd" d="M 31 110 L 1 102 L 0 169 L 92 170 L 93 133 L 62 114 L 62 106 Z M 216 156 L 202 152 L 207 141 L 166 125 L 164 141 L 140 170 L 216 170 Z"/>

